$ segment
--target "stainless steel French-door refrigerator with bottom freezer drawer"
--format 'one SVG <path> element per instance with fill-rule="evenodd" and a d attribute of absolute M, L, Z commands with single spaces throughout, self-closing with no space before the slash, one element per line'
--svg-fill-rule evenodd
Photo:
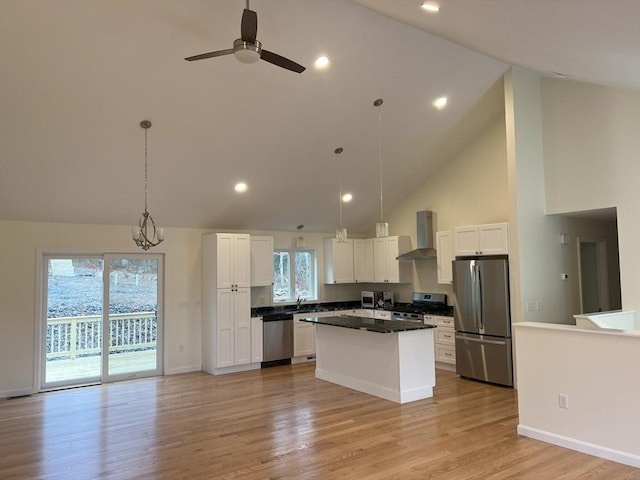
<path fill-rule="evenodd" d="M 453 307 L 458 375 L 513 386 L 507 258 L 455 260 Z"/>

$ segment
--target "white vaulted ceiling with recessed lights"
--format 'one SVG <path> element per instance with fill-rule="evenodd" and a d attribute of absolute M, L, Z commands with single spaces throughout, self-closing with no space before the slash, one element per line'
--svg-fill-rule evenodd
<path fill-rule="evenodd" d="M 510 63 L 640 86 L 638 0 L 443 1 L 437 16 L 418 3 L 252 1 L 258 39 L 296 74 L 183 60 L 231 47 L 241 0 L 0 0 L 0 218 L 136 223 L 149 119 L 158 224 L 331 231 L 342 146 L 344 223 L 365 232 L 380 216 L 374 99 L 390 211 L 501 113 Z M 329 69 L 313 68 L 320 54 Z"/>

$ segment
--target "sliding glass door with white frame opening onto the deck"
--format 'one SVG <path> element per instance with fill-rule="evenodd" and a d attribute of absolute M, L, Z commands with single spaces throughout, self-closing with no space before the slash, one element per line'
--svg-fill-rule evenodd
<path fill-rule="evenodd" d="M 162 374 L 162 255 L 44 255 L 42 265 L 41 389 Z"/>

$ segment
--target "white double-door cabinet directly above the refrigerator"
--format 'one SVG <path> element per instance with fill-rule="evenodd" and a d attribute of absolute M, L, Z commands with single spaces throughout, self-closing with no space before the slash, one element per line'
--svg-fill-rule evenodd
<path fill-rule="evenodd" d="M 456 256 L 506 255 L 509 253 L 509 224 L 470 225 L 454 230 Z"/>

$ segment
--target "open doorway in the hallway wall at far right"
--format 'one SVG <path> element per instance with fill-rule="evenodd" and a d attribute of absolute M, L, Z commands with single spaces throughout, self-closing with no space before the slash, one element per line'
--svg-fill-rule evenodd
<path fill-rule="evenodd" d="M 606 240 L 578 237 L 580 313 L 610 309 Z"/>

